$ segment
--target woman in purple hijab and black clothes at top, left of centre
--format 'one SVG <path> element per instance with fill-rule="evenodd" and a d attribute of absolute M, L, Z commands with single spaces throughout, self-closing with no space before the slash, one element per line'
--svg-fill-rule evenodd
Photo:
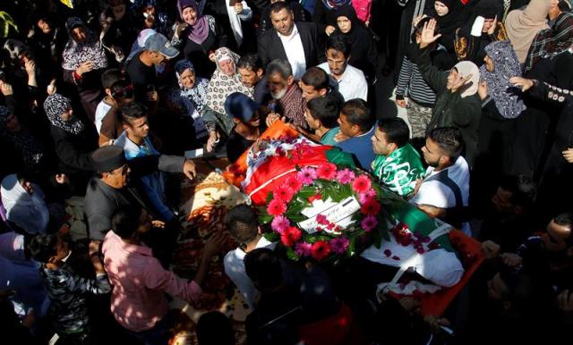
<path fill-rule="evenodd" d="M 226 42 L 218 37 L 215 19 L 202 14 L 202 5 L 195 0 L 177 0 L 177 10 L 184 22 L 177 25 L 171 44 L 193 62 L 199 76 L 209 78 L 215 69 L 210 54 Z"/>

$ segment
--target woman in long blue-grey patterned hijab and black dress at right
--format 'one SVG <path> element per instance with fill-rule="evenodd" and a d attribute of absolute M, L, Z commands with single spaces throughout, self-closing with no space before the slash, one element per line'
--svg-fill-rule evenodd
<path fill-rule="evenodd" d="M 488 202 L 491 181 L 512 174 L 517 117 L 525 110 L 521 89 L 510 82 L 521 76 L 517 55 L 509 41 L 496 41 L 485 47 L 486 56 L 480 67 L 482 81 L 478 95 L 482 100 L 479 130 L 480 156 L 475 167 L 475 195 Z M 489 187 L 489 188 L 488 188 Z M 481 199 L 481 198 L 480 198 Z"/>

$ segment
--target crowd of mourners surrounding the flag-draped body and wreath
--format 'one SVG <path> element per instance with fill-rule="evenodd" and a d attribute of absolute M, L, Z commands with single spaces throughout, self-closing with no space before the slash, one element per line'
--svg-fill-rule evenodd
<path fill-rule="evenodd" d="M 201 345 L 235 344 L 227 316 L 191 326 L 169 308 L 174 297 L 201 301 L 221 255 L 250 310 L 248 344 L 567 343 L 572 9 L 569 0 L 0 4 L 3 340 L 186 344 L 194 332 Z M 379 106 L 392 96 L 404 116 Z M 415 296 L 377 294 L 395 270 L 367 257 L 286 260 L 246 205 L 206 241 L 192 281 L 170 270 L 181 178 L 196 174 L 185 152 L 234 163 L 277 121 L 351 154 L 385 192 L 482 243 L 486 261 L 444 315 L 421 316 Z M 239 246 L 221 253 L 229 237 Z"/>

